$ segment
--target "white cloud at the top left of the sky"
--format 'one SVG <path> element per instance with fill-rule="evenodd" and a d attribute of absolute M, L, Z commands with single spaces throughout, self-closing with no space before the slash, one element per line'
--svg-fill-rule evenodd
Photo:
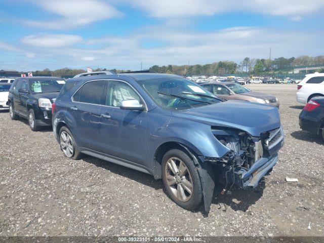
<path fill-rule="evenodd" d="M 50 21 L 23 21 L 24 24 L 38 28 L 74 28 L 123 15 L 117 9 L 99 0 L 33 0 L 32 3 L 60 16 Z"/>

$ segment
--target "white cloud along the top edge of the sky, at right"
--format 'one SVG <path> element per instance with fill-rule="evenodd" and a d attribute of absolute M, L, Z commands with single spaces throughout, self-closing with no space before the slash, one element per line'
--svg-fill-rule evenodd
<path fill-rule="evenodd" d="M 211 16 L 225 12 L 255 12 L 276 16 L 299 16 L 319 11 L 322 0 L 132 0 L 133 7 L 143 9 L 152 17 Z"/>

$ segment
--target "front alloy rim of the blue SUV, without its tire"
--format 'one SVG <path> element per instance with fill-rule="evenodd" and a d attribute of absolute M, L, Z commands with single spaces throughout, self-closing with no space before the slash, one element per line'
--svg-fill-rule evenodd
<path fill-rule="evenodd" d="M 167 161 L 165 173 L 173 195 L 183 202 L 190 200 L 193 193 L 193 183 L 185 163 L 180 158 L 171 157 Z"/>

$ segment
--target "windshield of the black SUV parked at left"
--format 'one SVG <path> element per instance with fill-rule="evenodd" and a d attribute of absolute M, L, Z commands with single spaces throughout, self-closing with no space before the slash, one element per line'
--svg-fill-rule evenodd
<path fill-rule="evenodd" d="M 60 92 L 63 85 L 65 84 L 64 80 L 58 79 L 46 79 L 46 80 L 31 80 L 30 88 L 33 93 L 52 93 Z"/>

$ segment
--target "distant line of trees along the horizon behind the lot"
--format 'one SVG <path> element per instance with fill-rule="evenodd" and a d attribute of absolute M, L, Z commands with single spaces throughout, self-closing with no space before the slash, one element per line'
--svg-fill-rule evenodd
<path fill-rule="evenodd" d="M 263 73 L 263 72 L 288 72 L 296 66 L 308 66 L 308 65 L 320 65 L 324 64 L 324 55 L 309 57 L 299 56 L 284 58 L 279 57 L 274 60 L 270 59 L 254 59 L 246 57 L 238 64 L 233 61 L 219 61 L 205 65 L 154 65 L 149 68 L 150 71 L 157 73 L 175 73 L 182 75 L 192 74 L 212 74 L 212 73 Z M 113 71 L 115 73 L 130 71 L 121 69 L 107 69 L 97 68 L 94 71 Z M 322 71 L 322 70 L 321 70 Z M 46 68 L 42 71 L 37 70 L 32 72 L 35 76 L 74 76 L 78 73 L 87 72 L 85 69 L 71 69 L 61 68 L 56 70 L 50 70 Z"/>

